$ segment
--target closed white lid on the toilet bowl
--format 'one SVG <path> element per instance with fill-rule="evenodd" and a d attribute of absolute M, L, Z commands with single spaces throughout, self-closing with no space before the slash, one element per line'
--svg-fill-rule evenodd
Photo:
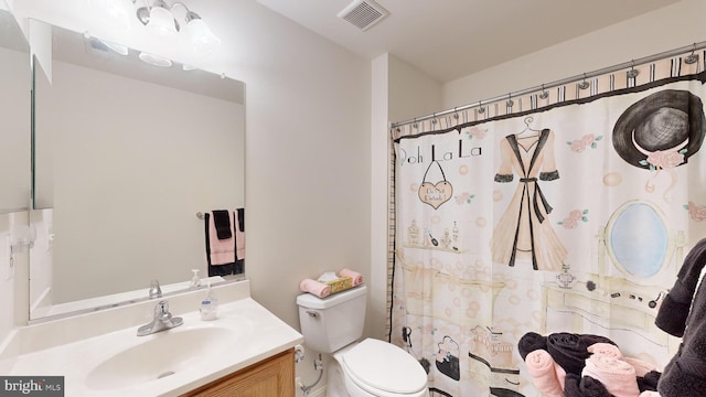
<path fill-rule="evenodd" d="M 366 339 L 343 355 L 361 387 L 413 394 L 427 386 L 427 373 L 409 353 L 387 342 Z"/>

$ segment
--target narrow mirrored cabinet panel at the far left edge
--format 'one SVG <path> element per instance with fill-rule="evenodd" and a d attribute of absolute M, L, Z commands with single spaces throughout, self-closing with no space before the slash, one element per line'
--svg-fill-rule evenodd
<path fill-rule="evenodd" d="M 30 205 L 29 44 L 0 1 L 0 214 Z"/>

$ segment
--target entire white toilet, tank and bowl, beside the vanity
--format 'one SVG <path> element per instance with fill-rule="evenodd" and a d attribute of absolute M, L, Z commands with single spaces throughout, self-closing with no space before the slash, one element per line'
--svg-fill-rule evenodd
<path fill-rule="evenodd" d="M 304 344 L 333 354 L 329 365 L 329 397 L 425 397 L 427 373 L 410 354 L 387 342 L 363 335 L 367 288 L 317 298 L 297 297 Z"/>

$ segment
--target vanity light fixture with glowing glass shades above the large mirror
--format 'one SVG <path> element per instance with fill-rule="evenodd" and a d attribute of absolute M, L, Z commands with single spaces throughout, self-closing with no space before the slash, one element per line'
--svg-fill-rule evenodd
<path fill-rule="evenodd" d="M 137 2 L 137 0 L 130 1 Z M 159 34 L 176 35 L 181 32 L 199 55 L 208 54 L 221 44 L 221 40 L 201 17 L 191 11 L 183 2 L 175 2 L 172 6 L 169 6 L 164 0 L 143 0 L 143 2 L 145 6 L 137 9 L 137 19 Z M 174 10 L 178 6 L 181 6 L 185 12 L 175 13 Z M 183 32 L 180 22 L 185 24 Z"/>

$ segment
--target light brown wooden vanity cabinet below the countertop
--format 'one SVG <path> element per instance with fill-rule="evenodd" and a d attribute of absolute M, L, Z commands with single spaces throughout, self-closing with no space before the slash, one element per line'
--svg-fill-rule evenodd
<path fill-rule="evenodd" d="M 290 348 L 259 363 L 184 394 L 182 397 L 295 397 L 295 350 Z"/>

